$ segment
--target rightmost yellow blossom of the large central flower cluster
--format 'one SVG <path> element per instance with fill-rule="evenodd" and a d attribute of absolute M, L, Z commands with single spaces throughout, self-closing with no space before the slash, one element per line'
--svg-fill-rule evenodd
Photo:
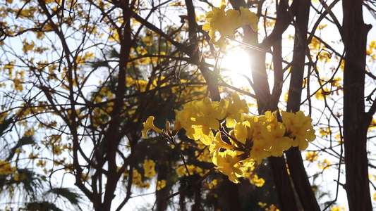
<path fill-rule="evenodd" d="M 311 124 L 312 119 L 305 116 L 302 111 L 296 114 L 282 111 L 282 120 L 286 125 L 286 129 L 293 138 L 292 146 L 299 146 L 299 150 L 303 151 L 308 147 L 308 141 L 316 139 L 315 130 Z"/>

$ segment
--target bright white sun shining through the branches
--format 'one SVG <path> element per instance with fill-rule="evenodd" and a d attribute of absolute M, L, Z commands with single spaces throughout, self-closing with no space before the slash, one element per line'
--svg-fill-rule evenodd
<path fill-rule="evenodd" d="M 220 61 L 221 74 L 225 81 L 234 87 L 250 87 L 250 55 L 236 47 L 226 52 Z"/>

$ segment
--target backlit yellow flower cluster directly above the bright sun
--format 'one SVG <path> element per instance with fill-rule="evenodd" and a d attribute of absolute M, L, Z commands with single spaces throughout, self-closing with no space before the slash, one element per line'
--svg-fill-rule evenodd
<path fill-rule="evenodd" d="M 254 31 L 257 31 L 257 15 L 249 8 L 240 7 L 240 11 L 229 9 L 224 11 L 226 6 L 221 8 L 213 7 L 213 10 L 206 13 L 207 22 L 202 25 L 202 30 L 209 31 L 210 42 L 221 49 L 226 49 L 226 40 L 224 37 L 234 39 L 236 29 L 245 25 L 250 25 Z M 216 32 L 221 34 L 217 39 Z"/>

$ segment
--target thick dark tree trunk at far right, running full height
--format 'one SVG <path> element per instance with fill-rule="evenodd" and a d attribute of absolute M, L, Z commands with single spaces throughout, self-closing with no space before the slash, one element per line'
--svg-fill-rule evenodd
<path fill-rule="evenodd" d="M 367 34 L 363 0 L 344 0 L 342 39 L 344 67 L 344 148 L 346 191 L 350 210 L 372 210 L 368 179 L 367 130 L 364 84 Z"/>

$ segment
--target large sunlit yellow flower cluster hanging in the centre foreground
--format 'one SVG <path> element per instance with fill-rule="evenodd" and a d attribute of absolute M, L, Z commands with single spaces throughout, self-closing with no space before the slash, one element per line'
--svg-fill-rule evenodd
<path fill-rule="evenodd" d="M 146 132 L 153 129 L 171 139 L 175 131 L 185 129 L 188 138 L 210 146 L 214 165 L 235 183 L 255 162 L 260 164 L 263 158 L 282 156 L 291 147 L 303 151 L 308 141 L 316 137 L 312 119 L 301 111 L 282 111 L 282 122 L 277 120 L 277 111 L 267 111 L 258 117 L 246 115 L 248 112 L 248 104 L 237 94 L 220 102 L 204 98 L 186 103 L 183 110 L 176 111 L 173 132 L 169 122 L 165 132 L 154 126 L 154 117 L 149 117 L 142 135 L 146 137 Z"/>

